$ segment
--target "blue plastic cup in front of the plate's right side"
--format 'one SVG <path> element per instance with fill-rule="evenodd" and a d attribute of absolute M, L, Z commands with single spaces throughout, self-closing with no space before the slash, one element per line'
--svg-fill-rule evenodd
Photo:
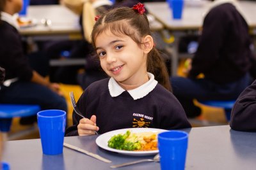
<path fill-rule="evenodd" d="M 188 133 L 167 131 L 158 134 L 161 170 L 184 170 L 188 148 Z"/>

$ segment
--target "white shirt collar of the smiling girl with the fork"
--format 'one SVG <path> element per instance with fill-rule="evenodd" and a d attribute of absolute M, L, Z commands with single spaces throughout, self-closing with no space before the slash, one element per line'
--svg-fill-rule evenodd
<path fill-rule="evenodd" d="M 147 94 L 155 89 L 158 82 L 155 80 L 154 74 L 148 73 L 148 77 L 149 80 L 147 83 L 144 83 L 136 89 L 127 90 L 127 92 L 132 96 L 134 100 L 147 96 Z M 117 97 L 125 91 L 112 77 L 108 81 L 108 89 L 111 97 Z"/>

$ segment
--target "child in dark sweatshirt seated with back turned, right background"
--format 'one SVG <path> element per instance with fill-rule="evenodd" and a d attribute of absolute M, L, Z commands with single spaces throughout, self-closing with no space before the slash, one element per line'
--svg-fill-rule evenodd
<path fill-rule="evenodd" d="M 253 53 L 248 25 L 236 1 L 217 0 L 204 18 L 188 78 L 173 77 L 173 94 L 188 117 L 197 117 L 197 100 L 234 100 L 250 84 Z M 200 74 L 204 78 L 199 78 Z M 201 74 L 201 75 L 202 75 Z"/>

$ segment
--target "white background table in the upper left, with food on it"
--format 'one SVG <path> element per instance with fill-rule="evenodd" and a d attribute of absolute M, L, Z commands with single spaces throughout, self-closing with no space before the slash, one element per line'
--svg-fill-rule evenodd
<path fill-rule="evenodd" d="M 51 36 L 64 39 L 81 38 L 79 16 L 74 14 L 65 6 L 61 5 L 39 5 L 29 6 L 28 18 L 36 20 L 35 27 L 20 29 L 22 36 L 47 37 Z M 41 23 L 42 19 L 51 20 L 51 25 Z"/>

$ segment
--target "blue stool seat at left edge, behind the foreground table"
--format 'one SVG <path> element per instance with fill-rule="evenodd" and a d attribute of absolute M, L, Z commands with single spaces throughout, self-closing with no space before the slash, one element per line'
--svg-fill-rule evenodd
<path fill-rule="evenodd" d="M 36 115 L 40 106 L 29 104 L 0 104 L 0 131 L 9 132 L 13 117 Z"/>

